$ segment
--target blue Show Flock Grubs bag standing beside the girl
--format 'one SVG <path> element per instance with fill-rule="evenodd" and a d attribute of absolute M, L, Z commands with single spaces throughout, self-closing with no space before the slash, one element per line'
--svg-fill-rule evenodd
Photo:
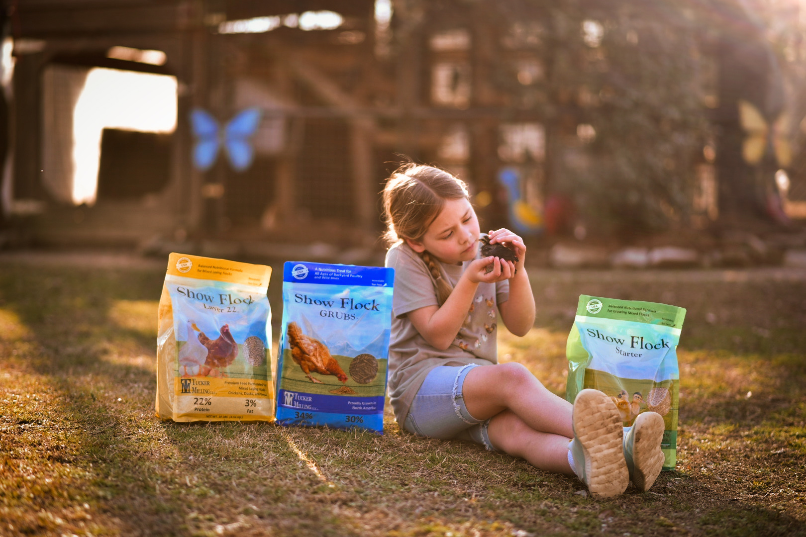
<path fill-rule="evenodd" d="M 384 431 L 394 270 L 286 262 L 277 423 Z"/>

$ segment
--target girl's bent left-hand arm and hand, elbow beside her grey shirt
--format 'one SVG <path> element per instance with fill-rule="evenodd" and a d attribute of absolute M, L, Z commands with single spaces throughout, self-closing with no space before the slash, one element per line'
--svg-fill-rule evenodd
<path fill-rule="evenodd" d="M 484 269 L 491 263 L 492 272 L 485 274 Z M 409 320 L 429 345 L 445 350 L 455 340 L 459 328 L 462 328 L 479 283 L 495 283 L 508 279 L 513 271 L 512 262 L 502 262 L 495 257 L 476 259 L 467 266 L 445 304 L 415 309 L 408 313 Z"/>

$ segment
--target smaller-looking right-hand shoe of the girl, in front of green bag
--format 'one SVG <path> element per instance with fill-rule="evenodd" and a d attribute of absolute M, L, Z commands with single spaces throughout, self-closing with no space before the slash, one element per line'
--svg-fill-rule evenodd
<path fill-rule="evenodd" d="M 658 478 L 666 457 L 660 448 L 666 425 L 657 412 L 642 412 L 624 435 L 624 459 L 629 478 L 641 492 L 646 492 Z"/>

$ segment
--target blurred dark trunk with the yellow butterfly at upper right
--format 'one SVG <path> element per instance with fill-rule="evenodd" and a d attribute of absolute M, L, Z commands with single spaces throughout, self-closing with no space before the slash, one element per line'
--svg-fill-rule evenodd
<path fill-rule="evenodd" d="M 719 127 L 719 209 L 721 221 L 730 227 L 752 228 L 758 221 L 786 218 L 778 201 L 775 171 L 787 167 L 791 159 L 775 151 L 774 141 L 775 134 L 787 138 L 789 133 L 775 133 L 776 127 L 783 126 L 785 95 L 777 39 L 762 19 L 772 14 L 770 4 L 765 4 L 713 2 L 720 67 L 719 106 L 714 116 Z"/>

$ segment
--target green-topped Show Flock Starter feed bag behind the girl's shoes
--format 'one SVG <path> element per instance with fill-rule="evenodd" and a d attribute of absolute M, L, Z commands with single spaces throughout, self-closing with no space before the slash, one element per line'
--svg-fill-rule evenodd
<path fill-rule="evenodd" d="M 668 304 L 580 295 L 566 345 L 566 399 L 573 402 L 584 388 L 601 390 L 625 427 L 644 411 L 662 415 L 664 470 L 677 461 L 677 344 L 685 316 Z"/>

